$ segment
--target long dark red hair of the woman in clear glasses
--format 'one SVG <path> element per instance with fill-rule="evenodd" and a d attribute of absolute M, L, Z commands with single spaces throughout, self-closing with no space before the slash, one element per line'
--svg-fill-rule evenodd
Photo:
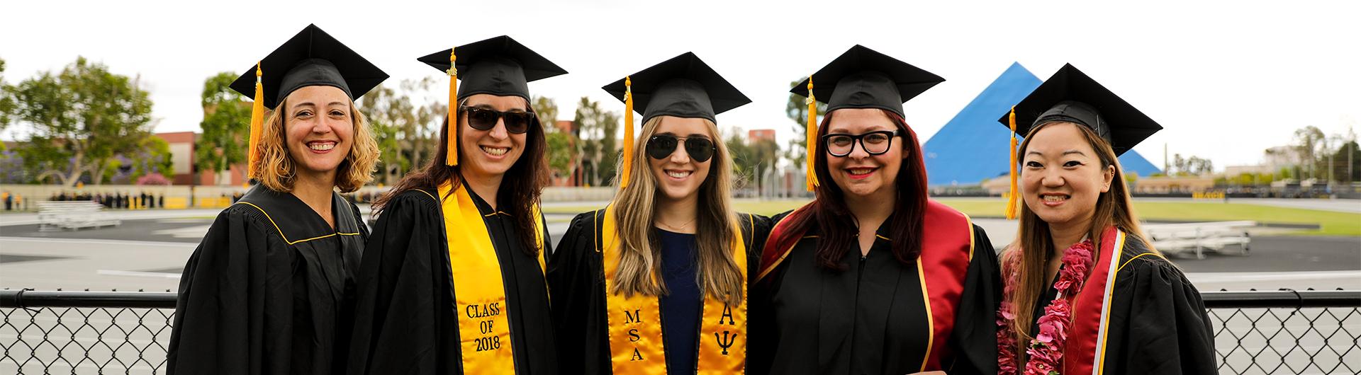
<path fill-rule="evenodd" d="M 921 254 L 920 234 L 927 211 L 927 168 L 921 159 L 921 144 L 917 143 L 917 133 L 897 113 L 883 110 L 883 114 L 902 133 L 901 147 L 902 152 L 906 152 L 894 182 L 897 197 L 893 216 L 885 224 L 889 226 L 891 235 L 893 257 L 904 265 L 913 265 L 917 255 Z M 836 111 L 830 111 L 822 118 L 822 125 L 818 126 L 818 141 L 822 141 L 822 136 L 827 135 L 830 128 L 827 125 L 832 124 L 834 115 Z M 818 175 L 818 181 L 822 182 L 814 189 L 817 198 L 808 204 L 807 209 L 789 213 L 784 219 L 789 221 L 789 230 L 773 234 L 766 246 L 792 246 L 799 240 L 798 236 L 817 226 L 819 238 L 814 257 L 818 265 L 832 270 L 845 270 L 847 265 L 841 264 L 841 258 L 845 257 L 847 251 L 851 251 L 851 246 L 847 243 L 855 242 L 855 235 L 859 232 L 856 230 L 857 221 L 851 215 L 851 208 L 847 207 L 845 192 L 832 179 L 832 171 L 827 170 L 827 154 L 817 152 L 813 160 L 813 170 Z"/>

